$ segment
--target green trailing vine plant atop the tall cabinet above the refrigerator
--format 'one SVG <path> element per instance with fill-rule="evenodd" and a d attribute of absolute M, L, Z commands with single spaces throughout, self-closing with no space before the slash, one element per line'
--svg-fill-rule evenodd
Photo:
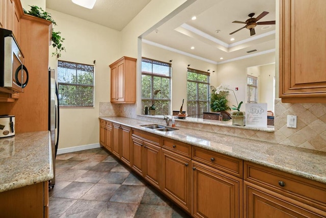
<path fill-rule="evenodd" d="M 46 11 L 43 11 L 43 9 L 38 6 L 30 6 L 30 7 L 31 10 L 29 11 L 23 9 L 25 14 L 29 14 L 35 17 L 49 20 L 53 23 L 53 26 L 57 26 L 57 23 L 55 20 L 53 20 L 51 14 L 47 13 Z M 56 55 L 58 58 L 61 56 L 62 51 L 66 51 L 65 47 L 63 46 L 63 40 L 65 40 L 65 38 L 62 38 L 60 34 L 61 32 L 59 31 L 55 32 L 54 29 L 52 28 L 51 41 L 52 41 L 52 46 L 56 49 L 56 51 L 52 53 L 52 56 Z"/>

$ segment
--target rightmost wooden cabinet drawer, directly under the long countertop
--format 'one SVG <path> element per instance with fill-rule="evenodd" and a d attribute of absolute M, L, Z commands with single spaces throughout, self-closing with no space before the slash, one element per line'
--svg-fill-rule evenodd
<path fill-rule="evenodd" d="M 326 184 L 244 162 L 244 180 L 326 211 Z"/>

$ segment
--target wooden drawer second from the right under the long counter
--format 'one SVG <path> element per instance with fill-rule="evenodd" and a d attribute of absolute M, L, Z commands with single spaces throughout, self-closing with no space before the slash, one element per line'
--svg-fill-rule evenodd
<path fill-rule="evenodd" d="M 243 161 L 235 157 L 193 146 L 192 159 L 233 176 L 243 178 Z"/>

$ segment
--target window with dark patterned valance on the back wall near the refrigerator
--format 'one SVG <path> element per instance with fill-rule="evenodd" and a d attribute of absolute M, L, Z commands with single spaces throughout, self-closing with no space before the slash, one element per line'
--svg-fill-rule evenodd
<path fill-rule="evenodd" d="M 94 106 L 94 66 L 58 61 L 60 107 Z"/>

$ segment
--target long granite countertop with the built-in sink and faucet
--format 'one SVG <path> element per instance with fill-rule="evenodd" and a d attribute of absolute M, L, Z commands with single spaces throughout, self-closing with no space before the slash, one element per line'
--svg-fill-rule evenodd
<path fill-rule="evenodd" d="M 153 124 L 141 119 L 117 116 L 99 118 L 326 183 L 326 152 L 178 126 L 175 128 L 179 130 L 161 132 L 141 127 L 140 125 Z M 165 125 L 165 120 L 160 124 Z"/>

